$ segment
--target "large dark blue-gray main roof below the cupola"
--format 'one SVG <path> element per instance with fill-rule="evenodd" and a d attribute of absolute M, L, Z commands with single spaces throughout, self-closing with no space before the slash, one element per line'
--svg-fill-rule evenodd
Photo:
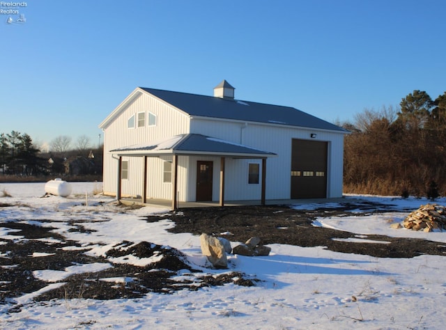
<path fill-rule="evenodd" d="M 163 91 L 154 88 L 141 87 L 141 89 L 185 111 L 190 116 L 309 127 L 348 133 L 346 129 L 293 107 L 228 100 L 220 97 Z"/>

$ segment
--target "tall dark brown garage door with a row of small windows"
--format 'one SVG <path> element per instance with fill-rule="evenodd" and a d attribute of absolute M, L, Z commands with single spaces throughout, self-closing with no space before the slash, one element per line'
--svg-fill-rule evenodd
<path fill-rule="evenodd" d="M 293 139 L 291 198 L 327 196 L 328 142 Z"/>

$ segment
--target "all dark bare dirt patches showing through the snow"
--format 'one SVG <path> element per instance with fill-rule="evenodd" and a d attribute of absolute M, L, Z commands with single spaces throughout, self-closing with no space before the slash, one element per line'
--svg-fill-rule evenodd
<path fill-rule="evenodd" d="M 0 205 L 8 207 L 10 205 Z M 164 214 L 147 217 L 148 222 L 171 219 L 176 226 L 172 233 L 193 233 L 200 235 L 219 235 L 231 242 L 245 242 L 250 237 L 258 236 L 262 244 L 291 244 L 297 246 L 325 246 L 326 249 L 344 253 L 365 254 L 382 258 L 413 258 L 421 254 L 441 255 L 446 247 L 437 242 L 424 239 L 392 238 L 380 235 L 368 235 L 368 239 L 390 242 L 390 244 L 363 244 L 339 242 L 333 238 L 355 237 L 355 234 L 318 228 L 312 226 L 317 217 L 331 217 L 351 214 L 351 210 L 364 214 L 372 214 L 376 210 L 383 212 L 383 205 L 373 203 L 345 203 L 335 208 L 319 208 L 317 210 L 293 210 L 287 205 L 275 206 L 243 206 L 243 207 L 202 207 L 186 208 Z M 385 208 L 385 207 L 384 207 Z M 388 208 L 388 207 L 387 207 Z M 390 210 L 389 210 L 390 211 Z M 360 214 L 360 213 L 355 213 Z M 26 220 L 26 219 L 23 219 Z M 88 256 L 86 246 L 82 249 L 77 242 L 68 242 L 65 237 L 52 232 L 51 223 L 44 226 L 33 226 L 20 222 L 0 223 L 0 227 L 17 231 L 9 235 L 17 235 L 25 239 L 0 239 L 0 304 L 10 304 L 10 312 L 20 311 L 20 305 L 14 298 L 29 292 L 36 292 L 48 285 L 33 275 L 39 269 L 63 270 L 72 265 L 83 265 L 93 262 L 107 263 L 107 258 Z M 75 230 L 88 233 L 82 221 L 76 223 Z M 57 239 L 63 243 L 49 243 L 44 238 Z M 78 246 L 79 250 L 66 251 L 63 246 Z M 128 249 L 131 246 L 131 249 Z M 53 253 L 45 258 L 33 258 L 33 252 Z M 199 290 L 203 286 L 236 283 L 238 285 L 255 285 L 256 279 L 245 274 L 222 271 L 220 276 L 202 274 L 187 263 L 185 256 L 175 249 L 166 249 L 149 242 L 121 242 L 115 249 L 109 250 L 107 256 L 118 257 L 132 254 L 140 258 L 162 254 L 164 258 L 146 267 L 126 264 L 112 264 L 101 272 L 82 273 L 63 279 L 64 285 L 37 295 L 36 301 L 51 299 L 93 298 L 118 299 L 137 298 L 147 292 L 171 293 L 175 290 Z M 181 269 L 183 275 L 190 275 L 191 280 L 175 281 L 173 276 Z M 102 278 L 129 278 L 124 283 L 102 281 Z"/>

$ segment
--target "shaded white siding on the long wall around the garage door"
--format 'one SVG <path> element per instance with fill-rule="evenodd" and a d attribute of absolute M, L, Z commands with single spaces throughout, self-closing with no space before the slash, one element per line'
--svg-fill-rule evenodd
<path fill-rule="evenodd" d="M 266 162 L 266 199 L 288 199 L 291 191 L 291 143 L 293 139 L 328 142 L 328 181 L 327 197 L 342 196 L 342 166 L 344 154 L 344 134 L 339 132 L 312 129 L 307 127 L 291 127 L 286 125 L 268 125 L 252 122 L 229 122 L 228 120 L 213 120 L 208 118 L 193 118 L 190 123 L 192 132 L 214 136 L 217 139 L 240 143 L 251 148 L 275 152 L 277 157 L 270 157 Z M 316 139 L 310 134 L 315 133 Z M 255 159 L 237 161 L 237 173 L 247 173 L 247 164 Z M 219 164 L 220 166 L 220 164 Z M 226 170 L 228 166 L 226 165 Z M 226 174 L 226 182 L 235 173 Z M 234 178 L 238 182 L 242 178 Z M 247 185 L 247 189 L 252 189 Z M 243 200 L 243 196 L 259 196 L 256 193 L 235 189 L 231 191 L 230 183 L 225 184 L 225 198 L 228 200 Z M 243 191 L 243 192 L 242 192 Z M 239 193 L 239 194 L 238 194 Z M 242 194 L 243 196 L 240 196 Z M 247 195 L 245 195 L 247 194 Z M 252 199 L 257 199 L 252 198 Z M 247 198 L 249 199 L 249 198 Z"/>

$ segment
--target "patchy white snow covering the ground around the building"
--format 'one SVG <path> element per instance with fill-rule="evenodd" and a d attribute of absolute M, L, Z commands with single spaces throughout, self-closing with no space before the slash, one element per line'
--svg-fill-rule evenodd
<path fill-rule="evenodd" d="M 197 267 L 206 265 L 201 256 L 199 237 L 172 234 L 168 220 L 148 223 L 146 214 L 167 212 L 142 207 L 120 212 L 112 198 L 95 195 L 100 183 L 71 183 L 68 198 L 45 194 L 43 183 L 0 184 L 0 222 L 26 221 L 51 226 L 67 239 L 90 244 L 88 253 L 98 256 L 104 244 L 123 240 L 169 245 L 182 251 Z M 358 196 L 346 196 L 357 198 Z M 412 210 L 428 203 L 423 199 L 360 196 L 367 201 L 388 205 L 392 212 L 316 219 L 314 226 L 325 226 L 357 233 L 355 242 L 368 244 L 367 235 L 415 237 L 446 244 L 446 233 L 419 233 L 392 229 L 390 223 L 402 221 Z M 436 203 L 445 205 L 445 199 Z M 86 205 L 87 204 L 87 205 Z M 300 209 L 325 205 L 295 205 Z M 90 233 L 70 231 L 68 219 L 89 219 Z M 0 239 L 18 239 L 13 230 L 0 227 Z M 235 243 L 235 242 L 234 242 Z M 0 240 L 0 244 L 2 241 Z M 4 244 L 4 243 L 3 243 Z M 18 313 L 8 313 L 10 305 L 0 305 L 1 329 L 444 329 L 446 311 L 445 256 L 416 258 L 374 258 L 337 253 L 323 246 L 303 248 L 271 244 L 268 257 L 230 256 L 231 270 L 253 274 L 261 282 L 255 287 L 227 284 L 182 290 L 174 294 L 147 294 L 140 299 L 99 301 L 59 299 L 35 303 L 38 294 L 25 294 L 15 301 L 23 304 Z M 67 249 L 70 249 L 67 246 Z M 36 251 L 36 258 L 45 253 Z M 0 266 L 2 263 L 0 254 Z M 147 260 L 146 260 L 147 261 Z M 128 260 L 127 262 L 141 262 Z M 3 266 L 1 266 L 3 267 Z M 70 274 L 103 269 L 106 264 L 73 265 L 65 271 L 42 269 L 34 276 L 48 282 L 47 290 Z M 222 270 L 208 269 L 209 273 Z M 107 279 L 125 282 L 126 278 Z M 0 282 L 1 282 L 0 278 Z"/>

